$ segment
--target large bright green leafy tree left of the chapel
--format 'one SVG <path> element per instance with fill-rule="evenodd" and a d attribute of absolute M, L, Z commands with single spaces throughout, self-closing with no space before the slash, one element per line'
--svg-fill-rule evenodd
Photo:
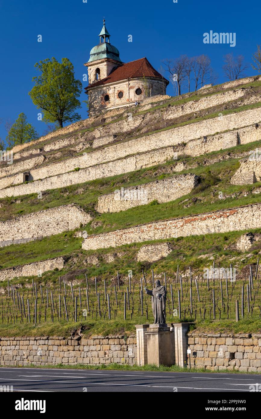
<path fill-rule="evenodd" d="M 81 119 L 75 112 L 81 108 L 77 99 L 82 91 L 82 83 L 74 77 L 74 68 L 68 58 L 45 59 L 36 62 L 34 66 L 41 72 L 34 77 L 35 86 L 29 95 L 37 108 L 44 113 L 45 122 L 58 122 L 62 128 L 65 122 L 74 122 Z"/>

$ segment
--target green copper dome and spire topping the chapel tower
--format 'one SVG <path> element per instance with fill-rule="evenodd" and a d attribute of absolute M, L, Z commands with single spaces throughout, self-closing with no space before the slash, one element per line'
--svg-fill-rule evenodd
<path fill-rule="evenodd" d="M 90 59 L 88 62 L 103 58 L 111 58 L 115 61 L 121 62 L 119 50 L 109 42 L 110 34 L 105 26 L 105 20 L 103 20 L 103 28 L 101 29 L 99 36 L 100 44 L 96 45 L 90 50 Z M 108 42 L 106 39 L 108 39 Z"/>

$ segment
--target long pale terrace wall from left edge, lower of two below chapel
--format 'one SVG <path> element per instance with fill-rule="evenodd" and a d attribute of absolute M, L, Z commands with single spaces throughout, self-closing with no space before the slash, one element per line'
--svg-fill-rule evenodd
<path fill-rule="evenodd" d="M 122 173 L 128 173 L 144 167 L 164 163 L 173 158 L 173 156 L 173 147 L 165 147 L 148 153 L 123 158 L 116 162 L 103 163 L 101 165 L 81 169 L 80 171 L 64 173 L 28 184 L 12 186 L 1 190 L 0 198 L 38 193 L 39 191 L 45 191 L 47 189 L 62 188 L 64 186 L 80 184 L 98 178 L 120 175 Z"/>

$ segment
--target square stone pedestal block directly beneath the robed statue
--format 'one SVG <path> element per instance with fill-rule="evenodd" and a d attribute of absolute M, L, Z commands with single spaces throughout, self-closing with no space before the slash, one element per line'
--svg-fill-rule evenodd
<path fill-rule="evenodd" d="M 147 363 L 166 365 L 175 363 L 174 334 L 166 324 L 150 324 L 147 336 Z"/>

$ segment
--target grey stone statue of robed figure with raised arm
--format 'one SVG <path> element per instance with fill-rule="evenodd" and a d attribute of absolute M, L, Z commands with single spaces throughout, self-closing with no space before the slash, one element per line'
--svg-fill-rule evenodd
<path fill-rule="evenodd" d="M 160 281 L 157 280 L 155 283 L 156 287 L 153 290 L 148 290 L 144 287 L 146 294 L 152 297 L 152 313 L 154 316 L 155 324 L 166 323 L 166 288 L 160 285 Z"/>

